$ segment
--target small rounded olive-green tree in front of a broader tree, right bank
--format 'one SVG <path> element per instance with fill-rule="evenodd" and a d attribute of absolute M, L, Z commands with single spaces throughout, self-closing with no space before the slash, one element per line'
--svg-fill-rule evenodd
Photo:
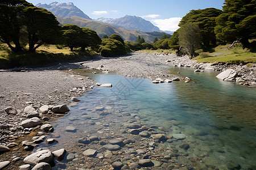
<path fill-rule="evenodd" d="M 191 54 L 190 58 L 195 56 L 195 50 L 200 46 L 200 28 L 195 23 L 185 23 L 179 31 L 179 44 L 184 46 Z"/>

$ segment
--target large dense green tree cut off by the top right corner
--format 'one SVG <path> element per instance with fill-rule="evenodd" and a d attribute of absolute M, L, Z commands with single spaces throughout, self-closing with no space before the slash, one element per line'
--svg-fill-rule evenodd
<path fill-rule="evenodd" d="M 249 48 L 248 39 L 256 37 L 256 1 L 225 0 L 223 13 L 216 18 L 214 29 L 217 39 L 223 42 L 240 41 Z"/>

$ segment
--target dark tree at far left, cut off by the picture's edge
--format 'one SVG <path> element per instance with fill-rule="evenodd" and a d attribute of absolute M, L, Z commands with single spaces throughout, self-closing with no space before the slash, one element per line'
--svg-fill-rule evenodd
<path fill-rule="evenodd" d="M 24 0 L 0 1 L 0 41 L 6 43 L 14 52 L 22 50 L 22 46 L 20 45 L 22 20 L 20 16 L 22 15 L 22 9 L 26 6 L 33 5 Z"/>

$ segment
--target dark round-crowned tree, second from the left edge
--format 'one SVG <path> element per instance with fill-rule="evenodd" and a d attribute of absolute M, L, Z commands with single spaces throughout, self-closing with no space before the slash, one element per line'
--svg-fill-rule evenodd
<path fill-rule="evenodd" d="M 23 9 L 24 23 L 27 27 L 29 51 L 44 43 L 54 44 L 60 36 L 59 22 L 44 8 L 26 7 Z"/>

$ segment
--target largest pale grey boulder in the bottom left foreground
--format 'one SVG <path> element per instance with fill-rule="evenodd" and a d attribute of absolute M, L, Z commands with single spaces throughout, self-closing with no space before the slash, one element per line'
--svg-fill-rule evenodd
<path fill-rule="evenodd" d="M 40 162 L 52 163 L 53 154 L 49 150 L 38 151 L 35 152 L 34 154 L 28 155 L 26 158 L 24 158 L 23 162 L 31 165 L 35 165 Z"/>

